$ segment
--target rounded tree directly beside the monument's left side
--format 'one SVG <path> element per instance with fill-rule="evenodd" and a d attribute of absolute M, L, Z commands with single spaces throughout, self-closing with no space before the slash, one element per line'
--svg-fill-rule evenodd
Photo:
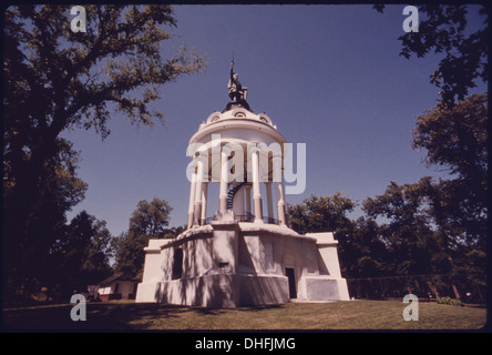
<path fill-rule="evenodd" d="M 173 209 L 165 200 L 154 197 L 150 203 L 140 201 L 130 219 L 129 231 L 115 241 L 115 270 L 129 277 L 142 278 L 144 247 L 148 240 L 163 237 Z"/>

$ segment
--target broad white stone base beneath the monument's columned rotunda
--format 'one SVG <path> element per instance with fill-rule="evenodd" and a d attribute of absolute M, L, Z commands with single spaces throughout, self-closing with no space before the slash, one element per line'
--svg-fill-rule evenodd
<path fill-rule="evenodd" d="M 350 300 L 332 233 L 300 236 L 224 214 L 176 239 L 151 240 L 145 253 L 135 302 L 234 308 Z"/>

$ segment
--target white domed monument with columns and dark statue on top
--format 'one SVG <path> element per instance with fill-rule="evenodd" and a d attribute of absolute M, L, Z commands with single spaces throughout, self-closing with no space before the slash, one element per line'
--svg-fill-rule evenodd
<path fill-rule="evenodd" d="M 233 69 L 230 77 L 232 101 L 189 140 L 187 230 L 150 240 L 135 302 L 230 308 L 348 301 L 334 234 L 299 235 L 286 221 L 284 136 L 250 111 Z M 218 195 L 208 194 L 214 183 Z M 207 217 L 212 199 L 218 211 Z"/>

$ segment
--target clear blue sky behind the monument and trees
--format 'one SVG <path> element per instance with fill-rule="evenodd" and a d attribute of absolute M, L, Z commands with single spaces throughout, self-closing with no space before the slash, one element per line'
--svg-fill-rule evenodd
<path fill-rule="evenodd" d="M 410 148 L 416 118 L 437 103 L 429 75 L 440 57 L 399 55 L 403 7 L 381 14 L 371 6 L 175 6 L 177 28 L 164 50 L 186 43 L 208 65 L 162 88 L 154 106 L 164 124 L 134 126 L 115 113 L 104 141 L 93 131 L 64 134 L 81 152 L 79 176 L 89 184 L 69 220 L 85 210 L 119 235 L 137 202 L 157 196 L 174 209 L 171 226 L 186 223 L 187 142 L 227 104 L 233 51 L 252 110 L 268 114 L 288 142 L 306 143 L 306 191 L 288 203 L 336 192 L 361 203 L 390 181 L 445 176 Z"/>

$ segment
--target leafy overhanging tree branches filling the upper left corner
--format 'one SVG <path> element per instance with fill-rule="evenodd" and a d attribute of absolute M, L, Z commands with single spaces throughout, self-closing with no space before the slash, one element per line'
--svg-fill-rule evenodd
<path fill-rule="evenodd" d="M 9 129 L 34 121 L 57 135 L 93 128 L 109 134 L 107 104 L 132 122 L 152 125 L 162 113 L 148 111 L 157 88 L 203 68 L 183 47 L 165 60 L 165 29 L 176 26 L 170 6 L 85 6 L 86 33 L 70 30 L 70 7 L 11 7 L 6 12 L 6 115 Z M 143 95 L 134 90 L 143 88 Z M 16 110 L 22 105 L 21 110 Z M 35 109 L 34 109 L 35 108 Z M 29 120 L 30 119 L 30 120 Z"/>

